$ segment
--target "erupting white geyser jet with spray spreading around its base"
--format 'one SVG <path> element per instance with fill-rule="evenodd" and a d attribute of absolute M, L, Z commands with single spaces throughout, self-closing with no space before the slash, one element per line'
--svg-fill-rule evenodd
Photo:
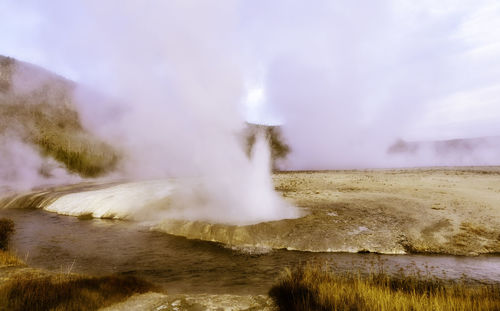
<path fill-rule="evenodd" d="M 163 218 L 248 225 L 299 217 L 299 210 L 274 191 L 269 143 L 263 134 L 256 137 L 250 161 L 245 160 L 237 174 L 185 183 L 172 195 L 172 208 Z"/>

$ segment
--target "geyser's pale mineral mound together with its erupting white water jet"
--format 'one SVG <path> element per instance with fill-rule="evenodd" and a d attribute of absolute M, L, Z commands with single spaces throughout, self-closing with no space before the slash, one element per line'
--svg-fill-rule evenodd
<path fill-rule="evenodd" d="M 251 165 L 238 173 L 110 185 L 63 194 L 42 207 L 65 215 L 149 223 L 182 219 L 248 225 L 299 217 L 273 192 L 268 148 L 265 138 L 258 137 Z"/>

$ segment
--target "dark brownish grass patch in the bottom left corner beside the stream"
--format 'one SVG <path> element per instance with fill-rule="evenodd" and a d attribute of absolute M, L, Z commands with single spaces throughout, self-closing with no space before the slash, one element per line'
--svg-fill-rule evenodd
<path fill-rule="evenodd" d="M 132 276 L 20 274 L 0 287 L 0 310 L 97 310 L 155 289 Z"/>

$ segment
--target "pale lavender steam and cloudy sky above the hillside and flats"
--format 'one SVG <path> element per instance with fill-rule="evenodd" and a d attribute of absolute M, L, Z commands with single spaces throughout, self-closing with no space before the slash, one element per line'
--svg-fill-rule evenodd
<path fill-rule="evenodd" d="M 497 165 L 496 139 L 388 149 L 500 135 L 499 16 L 487 0 L 9 0 L 0 54 L 84 86 L 83 124 L 131 178 L 245 170 L 245 121 L 281 125 L 283 169 Z"/>

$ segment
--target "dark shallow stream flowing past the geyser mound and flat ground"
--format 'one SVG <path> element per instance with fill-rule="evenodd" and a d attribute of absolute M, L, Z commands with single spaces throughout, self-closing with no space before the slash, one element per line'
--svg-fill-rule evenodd
<path fill-rule="evenodd" d="M 500 281 L 500 256 L 378 255 L 274 250 L 250 253 L 150 231 L 131 221 L 61 216 L 39 209 L 0 209 L 16 223 L 12 249 L 32 267 L 149 279 L 169 293 L 265 294 L 283 268 L 327 262 L 338 271 L 379 269 Z"/>

